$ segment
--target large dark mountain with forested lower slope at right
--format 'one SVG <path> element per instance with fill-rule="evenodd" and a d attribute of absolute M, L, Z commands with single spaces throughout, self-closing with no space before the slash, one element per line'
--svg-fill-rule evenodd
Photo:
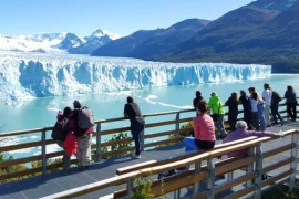
<path fill-rule="evenodd" d="M 258 0 L 210 22 L 155 61 L 271 64 L 299 72 L 299 1 Z"/>

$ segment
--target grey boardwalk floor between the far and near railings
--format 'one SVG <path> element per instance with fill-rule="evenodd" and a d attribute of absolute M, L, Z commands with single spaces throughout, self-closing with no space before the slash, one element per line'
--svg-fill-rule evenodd
<path fill-rule="evenodd" d="M 279 132 L 287 130 L 287 129 L 298 129 L 299 122 L 295 123 L 286 123 L 285 126 L 271 126 L 267 128 L 267 130 L 274 130 Z M 262 144 L 262 149 L 265 151 L 271 150 L 271 146 L 278 146 L 283 144 L 283 139 L 290 139 L 290 137 L 285 137 L 282 139 L 275 139 L 269 143 Z M 217 142 L 217 144 L 220 144 L 220 140 Z M 90 168 L 85 171 L 79 171 L 76 167 L 71 168 L 70 174 L 68 176 L 63 176 L 61 171 L 55 171 L 42 176 L 32 177 L 29 179 L 23 179 L 14 182 L 7 182 L 0 185 L 0 199 L 34 199 L 34 198 L 41 198 L 44 196 L 49 196 L 52 193 L 56 193 L 60 191 L 73 189 L 80 186 L 89 185 L 92 182 L 96 182 L 99 180 L 103 180 L 110 177 L 115 176 L 115 171 L 117 168 L 122 168 L 125 166 L 134 165 L 137 163 L 143 163 L 152 159 L 161 159 L 163 157 L 174 156 L 176 154 L 184 153 L 184 145 L 178 144 L 174 146 L 168 146 L 164 148 L 156 148 L 153 150 L 147 150 L 142 153 L 142 159 L 132 159 L 130 156 L 115 158 L 115 159 L 109 159 L 103 160 L 101 163 L 93 163 Z M 282 154 L 277 156 L 276 158 L 283 158 L 286 156 L 289 156 L 289 154 Z M 275 158 L 267 159 L 266 164 L 270 164 L 276 161 Z M 298 169 L 298 166 L 297 166 Z M 236 174 L 238 175 L 238 174 Z M 297 176 L 298 179 L 298 176 Z M 217 182 L 221 182 L 221 180 L 216 180 Z M 240 185 L 241 186 L 241 185 Z M 103 196 L 113 193 L 115 190 L 118 190 L 122 186 L 118 187 L 110 187 L 107 189 L 92 192 L 79 198 L 101 198 Z M 188 190 L 183 190 L 183 196 Z M 234 188 L 231 188 L 228 191 L 225 191 L 221 193 L 221 196 L 218 196 L 217 198 L 223 198 L 225 195 L 230 193 L 234 191 Z M 167 195 L 166 198 L 172 198 L 172 195 Z M 183 197 L 182 197 L 183 198 Z"/>

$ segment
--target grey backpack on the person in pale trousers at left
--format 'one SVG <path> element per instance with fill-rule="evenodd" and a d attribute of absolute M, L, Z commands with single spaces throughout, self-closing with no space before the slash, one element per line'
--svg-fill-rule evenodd
<path fill-rule="evenodd" d="M 78 126 L 81 129 L 86 129 L 94 126 L 93 112 L 84 106 L 78 109 Z"/>

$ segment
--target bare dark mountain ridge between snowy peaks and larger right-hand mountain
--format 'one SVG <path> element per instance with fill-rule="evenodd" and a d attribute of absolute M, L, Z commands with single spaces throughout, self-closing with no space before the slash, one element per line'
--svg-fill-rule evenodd
<path fill-rule="evenodd" d="M 189 39 L 209 23 L 207 20 L 188 19 L 167 29 L 141 30 L 112 41 L 95 50 L 94 56 L 126 56 L 151 60 L 176 44 Z"/>

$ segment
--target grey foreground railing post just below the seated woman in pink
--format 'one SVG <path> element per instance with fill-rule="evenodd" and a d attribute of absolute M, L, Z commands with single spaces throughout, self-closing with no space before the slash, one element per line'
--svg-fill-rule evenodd
<path fill-rule="evenodd" d="M 215 198 L 215 164 L 214 164 L 212 157 L 209 159 L 207 159 L 207 166 L 208 166 L 208 171 L 207 171 L 206 198 L 213 199 L 213 198 Z"/>

